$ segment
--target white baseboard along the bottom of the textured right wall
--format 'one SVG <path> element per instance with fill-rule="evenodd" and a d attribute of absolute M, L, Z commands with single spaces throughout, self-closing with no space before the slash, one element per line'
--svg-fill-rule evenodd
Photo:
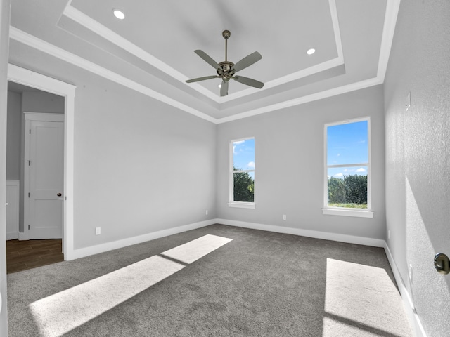
<path fill-rule="evenodd" d="M 395 263 L 394 257 L 385 242 L 385 252 L 387 256 L 387 260 L 391 265 L 392 273 L 394 274 L 395 281 L 397 282 L 397 286 L 399 287 L 401 299 L 403 300 L 404 308 L 406 311 L 406 315 L 408 316 L 411 327 L 413 328 L 414 336 L 416 337 L 427 337 L 425 330 L 423 329 L 422 323 L 420 322 L 420 318 L 417 315 L 416 308 L 414 307 L 413 300 L 411 296 L 409 296 L 409 292 L 406 289 L 406 286 L 401 278 L 399 268 L 397 267 L 397 263 Z"/>

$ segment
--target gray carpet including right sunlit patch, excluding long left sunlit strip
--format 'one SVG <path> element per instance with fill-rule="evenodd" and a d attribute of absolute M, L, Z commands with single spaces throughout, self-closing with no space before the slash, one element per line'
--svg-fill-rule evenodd
<path fill-rule="evenodd" d="M 49 337 L 32 303 L 205 234 L 232 241 L 63 336 L 413 336 L 383 249 L 224 225 L 8 275 L 9 336 Z"/>

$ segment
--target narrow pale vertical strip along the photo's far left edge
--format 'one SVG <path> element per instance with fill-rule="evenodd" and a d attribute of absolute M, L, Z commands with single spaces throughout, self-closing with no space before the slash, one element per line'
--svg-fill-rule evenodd
<path fill-rule="evenodd" d="M 8 98 L 8 40 L 10 0 L 0 0 L 0 336 L 8 336 L 6 303 L 6 100 Z"/>

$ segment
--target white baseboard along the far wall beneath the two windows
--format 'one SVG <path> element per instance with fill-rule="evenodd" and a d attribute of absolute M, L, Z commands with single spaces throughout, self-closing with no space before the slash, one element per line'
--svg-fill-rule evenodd
<path fill-rule="evenodd" d="M 313 237 L 314 239 L 346 242 L 348 244 L 362 244 L 364 246 L 373 246 L 373 247 L 385 246 L 385 240 L 371 239 L 370 237 L 356 237 L 353 235 L 346 235 L 346 234 L 319 232 L 316 230 L 302 230 L 300 228 L 263 225 L 260 223 L 247 223 L 244 221 L 236 221 L 236 220 L 216 219 L 216 221 L 217 223 L 221 223 L 222 225 L 245 227 L 250 228 L 252 230 L 266 230 L 268 232 L 293 234 L 302 237 Z"/>

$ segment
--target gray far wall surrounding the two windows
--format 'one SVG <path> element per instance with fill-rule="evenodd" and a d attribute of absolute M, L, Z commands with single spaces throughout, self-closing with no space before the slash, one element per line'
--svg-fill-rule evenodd
<path fill-rule="evenodd" d="M 371 117 L 373 218 L 325 216 L 324 124 Z M 228 206 L 229 142 L 255 136 L 255 209 Z M 383 86 L 219 124 L 217 215 L 229 220 L 359 237 L 385 237 Z M 287 220 L 283 220 L 283 214 Z"/>

